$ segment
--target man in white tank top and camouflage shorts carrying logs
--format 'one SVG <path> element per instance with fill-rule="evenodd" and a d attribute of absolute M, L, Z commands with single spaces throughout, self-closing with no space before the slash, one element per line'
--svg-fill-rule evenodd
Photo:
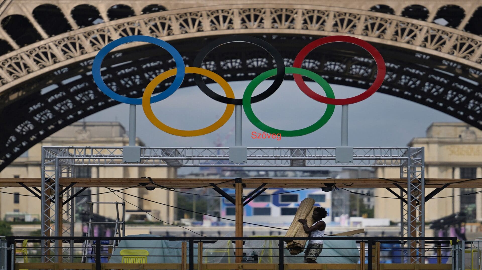
<path fill-rule="evenodd" d="M 303 224 L 303 229 L 306 233 L 309 233 L 309 237 L 323 237 L 325 236 L 326 223 L 321 220 L 328 216 L 326 209 L 323 207 L 316 207 L 313 209 L 313 225 L 308 226 L 306 219 L 300 218 L 298 222 Z M 309 240 L 308 246 L 305 250 L 305 261 L 306 263 L 317 263 L 316 258 L 320 256 L 321 250 L 323 249 L 323 240 Z"/>

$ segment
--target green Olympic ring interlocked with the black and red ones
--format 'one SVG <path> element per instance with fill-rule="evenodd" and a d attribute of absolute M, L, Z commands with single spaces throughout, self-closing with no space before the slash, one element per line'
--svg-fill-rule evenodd
<path fill-rule="evenodd" d="M 248 84 L 248 86 L 246 87 L 246 90 L 244 91 L 244 95 L 242 98 L 244 113 L 246 114 L 246 117 L 248 117 L 248 120 L 254 124 L 254 126 L 256 126 L 262 131 L 267 132 L 268 134 L 281 133 L 281 136 L 283 137 L 295 137 L 295 136 L 302 136 L 302 135 L 307 135 L 309 133 L 312 133 L 318 130 L 319 128 L 321 128 L 324 124 L 326 124 L 326 122 L 328 122 L 328 120 L 330 120 L 330 118 L 333 115 L 333 112 L 335 111 L 335 105 L 332 105 L 332 104 L 327 105 L 325 113 L 321 116 L 320 120 L 302 129 L 281 130 L 281 129 L 270 127 L 267 124 L 261 122 L 254 115 L 253 109 L 251 108 L 251 102 L 250 102 L 251 95 L 253 94 L 254 89 L 256 89 L 256 86 L 258 86 L 262 81 L 268 79 L 269 77 L 275 76 L 275 71 L 276 71 L 276 68 L 261 73 Z M 321 87 L 326 93 L 326 96 L 330 98 L 335 98 L 335 94 L 333 93 L 331 86 L 320 75 L 312 71 L 309 71 L 307 69 L 298 68 L 298 67 L 286 67 L 286 72 L 299 74 L 300 76 L 301 75 L 307 76 L 308 78 L 318 82 L 318 84 L 321 85 Z"/>

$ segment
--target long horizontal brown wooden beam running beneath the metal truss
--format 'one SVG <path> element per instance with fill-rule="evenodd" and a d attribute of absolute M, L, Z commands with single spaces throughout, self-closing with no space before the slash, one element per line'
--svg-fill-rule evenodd
<path fill-rule="evenodd" d="M 220 178 L 152 178 L 153 182 L 170 188 L 196 188 L 203 187 L 210 189 L 209 183 L 216 184 L 221 189 L 233 188 L 235 180 Z M 228 180 L 228 181 L 227 181 Z M 425 179 L 426 188 L 441 188 L 446 184 L 450 184 L 447 188 L 482 188 L 482 179 L 451 179 L 451 178 L 428 178 Z M 21 187 L 19 183 L 24 183 L 27 187 L 40 187 L 40 178 L 0 178 L 0 188 L 4 187 Z M 336 184 L 338 187 L 349 185 L 350 188 L 393 188 L 394 183 L 401 187 L 407 187 L 407 179 L 405 178 L 347 178 L 347 179 L 328 179 L 328 178 L 242 178 L 245 188 L 255 189 L 263 183 L 264 188 L 321 188 L 323 184 Z M 140 178 L 61 178 L 59 184 L 67 187 L 72 183 L 80 188 L 128 188 L 138 186 L 139 183 L 147 184 L 147 186 L 156 187 L 148 184 L 148 179 Z M 137 188 L 144 188 L 138 186 Z"/>

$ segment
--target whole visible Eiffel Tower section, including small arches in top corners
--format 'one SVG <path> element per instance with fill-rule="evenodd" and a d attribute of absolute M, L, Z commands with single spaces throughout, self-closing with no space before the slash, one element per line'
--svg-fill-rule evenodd
<path fill-rule="evenodd" d="M 233 4 L 226 0 L 206 6 L 187 0 L 165 5 L 144 0 L 4 1 L 0 7 L 0 110 L 9 117 L 1 119 L 0 141 L 6 143 L 0 149 L 0 170 L 55 131 L 117 104 L 98 91 L 89 71 L 97 51 L 128 35 L 169 41 L 187 65 L 209 40 L 229 34 L 252 35 L 272 43 L 287 66 L 312 39 L 358 37 L 372 43 L 387 62 L 381 93 L 482 128 L 482 37 L 474 27 L 482 8 L 477 1 L 462 0 L 456 5 L 432 0 L 403 4 L 338 0 L 325 1 L 325 5 L 267 2 Z M 222 55 L 229 59 L 208 56 L 211 66 L 207 68 L 217 68 L 228 81 L 251 80 L 248 68 L 255 73 L 274 64 L 261 50 L 226 50 Z M 374 80 L 373 59 L 343 46 L 317 50 L 308 58 L 306 68 L 329 82 L 366 88 Z M 109 74 L 106 81 L 119 94 L 139 97 L 159 70 L 173 67 L 169 59 L 158 48 L 130 43 L 106 59 L 103 72 Z M 129 67 L 115 65 L 126 61 L 133 62 Z"/>

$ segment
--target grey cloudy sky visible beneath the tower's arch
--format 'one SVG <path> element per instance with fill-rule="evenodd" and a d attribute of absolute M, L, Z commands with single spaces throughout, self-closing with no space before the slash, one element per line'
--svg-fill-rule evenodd
<path fill-rule="evenodd" d="M 272 81 L 260 84 L 254 94 Z M 230 82 L 237 98 L 242 97 L 248 81 Z M 209 84 L 216 93 L 223 91 L 217 84 Z M 263 87 L 264 86 L 264 87 Z M 308 86 L 323 94 L 321 87 L 313 82 Z M 362 93 L 362 89 L 332 85 L 337 98 L 345 98 Z M 216 121 L 226 105 L 212 100 L 197 87 L 178 89 L 173 95 L 152 104 L 156 116 L 165 124 L 178 129 L 199 129 Z M 299 129 L 317 121 L 324 113 L 326 105 L 310 99 L 302 93 L 294 81 L 284 81 L 281 88 L 267 99 L 255 103 L 256 116 L 266 124 L 279 129 Z M 282 137 L 281 140 L 252 139 L 251 133 L 261 132 L 248 121 L 243 111 L 242 141 L 246 146 L 300 146 L 328 147 L 340 144 L 341 106 L 336 106 L 333 117 L 316 132 L 302 137 Z M 120 104 L 95 113 L 86 121 L 120 121 L 126 129 L 129 126 L 129 105 Z M 426 106 L 394 97 L 375 93 L 360 103 L 349 105 L 350 146 L 406 146 L 413 137 L 425 136 L 431 122 L 458 121 L 454 117 Z M 214 146 L 218 136 L 224 138 L 234 127 L 234 114 L 220 129 L 198 137 L 179 137 L 157 129 L 147 120 L 141 106 L 137 106 L 137 136 L 147 146 Z M 234 134 L 225 146 L 234 145 Z"/>

